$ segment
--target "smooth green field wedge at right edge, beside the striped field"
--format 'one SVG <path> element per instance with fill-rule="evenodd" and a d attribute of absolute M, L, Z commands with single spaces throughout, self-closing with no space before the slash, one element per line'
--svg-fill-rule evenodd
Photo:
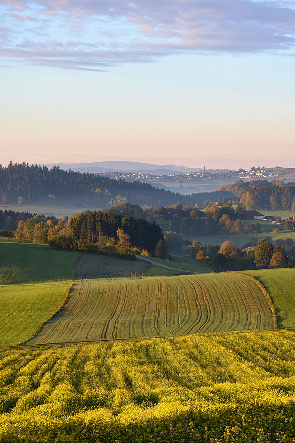
<path fill-rule="evenodd" d="M 267 290 L 274 304 L 279 328 L 295 328 L 295 269 L 245 271 Z"/>

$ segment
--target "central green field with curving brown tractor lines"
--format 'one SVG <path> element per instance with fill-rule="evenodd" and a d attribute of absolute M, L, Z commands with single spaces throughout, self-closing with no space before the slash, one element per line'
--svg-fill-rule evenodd
<path fill-rule="evenodd" d="M 246 276 L 138 278 L 144 266 L 81 255 L 69 301 L 28 344 L 273 328 L 264 294 Z"/>

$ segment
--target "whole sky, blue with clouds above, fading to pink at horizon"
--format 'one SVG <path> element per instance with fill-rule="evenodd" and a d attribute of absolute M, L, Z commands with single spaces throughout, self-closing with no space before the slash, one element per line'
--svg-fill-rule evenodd
<path fill-rule="evenodd" d="M 295 167 L 294 0 L 0 0 L 0 164 Z"/>

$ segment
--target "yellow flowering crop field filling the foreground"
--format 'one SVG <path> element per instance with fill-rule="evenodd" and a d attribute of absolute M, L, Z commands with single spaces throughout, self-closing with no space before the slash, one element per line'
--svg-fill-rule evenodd
<path fill-rule="evenodd" d="M 292 443 L 288 331 L 0 350 L 3 443 Z"/>

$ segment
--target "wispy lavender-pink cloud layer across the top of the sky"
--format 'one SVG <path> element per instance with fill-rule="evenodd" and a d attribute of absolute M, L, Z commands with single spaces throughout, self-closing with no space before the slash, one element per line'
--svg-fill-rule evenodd
<path fill-rule="evenodd" d="M 4 0 L 0 8 L 10 30 L 1 36 L 2 55 L 37 64 L 51 59 L 66 69 L 68 57 L 86 69 L 80 64 L 177 53 L 293 53 L 295 47 L 293 0 Z M 28 21 L 42 30 L 26 28 Z M 63 49 L 44 49 L 49 42 Z"/>

